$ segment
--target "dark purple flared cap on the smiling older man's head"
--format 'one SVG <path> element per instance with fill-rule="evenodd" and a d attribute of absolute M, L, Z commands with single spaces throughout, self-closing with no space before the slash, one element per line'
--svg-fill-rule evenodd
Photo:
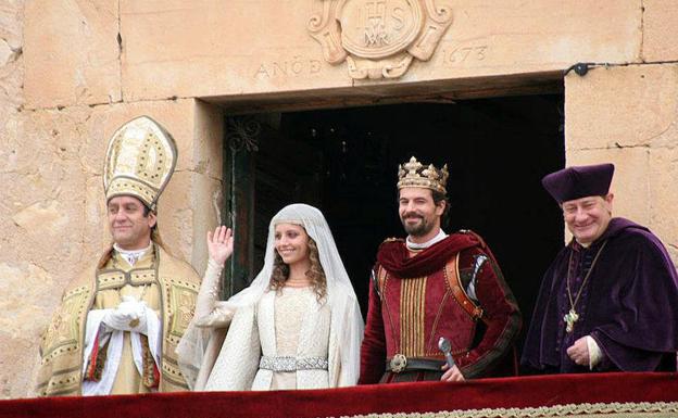
<path fill-rule="evenodd" d="M 607 194 L 613 174 L 613 164 L 582 165 L 551 173 L 541 179 L 541 183 L 556 202 L 563 203 Z"/>

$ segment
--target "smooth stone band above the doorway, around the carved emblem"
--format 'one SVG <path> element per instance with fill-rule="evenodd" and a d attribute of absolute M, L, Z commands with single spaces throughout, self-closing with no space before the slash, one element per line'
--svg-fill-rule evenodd
<path fill-rule="evenodd" d="M 26 11 L 29 107 L 105 103 L 121 97 L 137 101 L 313 89 L 325 93 L 382 84 L 353 83 L 346 62 L 331 66 L 324 61 L 319 43 L 307 31 L 322 1 L 62 2 L 34 0 Z M 451 8 L 452 25 L 431 61 L 415 62 L 398 85 L 538 74 L 575 62 L 640 60 L 641 0 L 436 3 Z M 45 28 L 52 29 L 49 38 Z M 64 53 L 73 49 L 78 52 Z M 58 77 L 46 81 L 42 76 L 53 72 L 52 55 Z"/>

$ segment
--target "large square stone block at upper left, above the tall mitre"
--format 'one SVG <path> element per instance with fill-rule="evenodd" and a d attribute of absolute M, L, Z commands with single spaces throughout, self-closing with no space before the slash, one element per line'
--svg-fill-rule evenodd
<path fill-rule="evenodd" d="M 118 4 L 26 1 L 27 107 L 121 101 Z"/>

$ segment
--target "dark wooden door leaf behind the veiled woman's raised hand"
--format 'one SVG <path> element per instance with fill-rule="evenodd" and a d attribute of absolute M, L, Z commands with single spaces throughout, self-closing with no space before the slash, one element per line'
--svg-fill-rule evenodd
<path fill-rule="evenodd" d="M 225 212 L 231 214 L 235 249 L 225 296 L 247 287 L 263 267 L 268 224 L 280 208 L 322 202 L 322 148 L 285 135 L 279 123 L 279 114 L 226 119 Z"/>

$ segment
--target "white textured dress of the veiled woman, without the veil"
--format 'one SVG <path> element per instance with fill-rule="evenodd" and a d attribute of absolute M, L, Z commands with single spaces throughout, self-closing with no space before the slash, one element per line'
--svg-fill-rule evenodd
<path fill-rule="evenodd" d="M 340 371 L 337 356 L 328 355 L 338 349 L 330 346 L 336 341 L 330 338 L 330 324 L 329 305 L 318 303 L 311 287 L 264 293 L 256 306 L 236 312 L 205 390 L 329 388 L 330 373 Z M 272 363 L 314 366 L 274 371 L 260 368 L 262 356 Z"/>

